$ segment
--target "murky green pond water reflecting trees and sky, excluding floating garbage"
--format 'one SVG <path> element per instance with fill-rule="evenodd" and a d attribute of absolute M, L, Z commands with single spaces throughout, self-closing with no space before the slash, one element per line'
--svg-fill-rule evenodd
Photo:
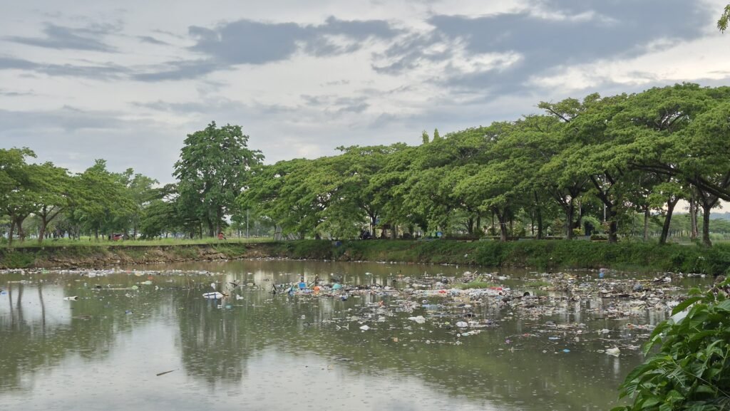
<path fill-rule="evenodd" d="M 269 293 L 272 283 L 300 274 L 403 287 L 399 274 L 463 268 L 301 261 L 136 268 L 211 274 L 0 274 L 0 410 L 607 410 L 642 356 L 598 351 L 640 345 L 650 331 L 626 325 L 666 318 L 653 310 L 607 315 L 606 299 L 566 299 L 529 315 L 485 304 L 470 315 L 491 325 L 465 337 L 451 325 L 466 310 L 434 309 L 438 299 L 413 308 L 378 293 L 347 301 Z M 520 288 L 523 276 L 504 283 Z M 244 285 L 224 301 L 202 298 L 214 281 L 219 289 Z M 415 315 L 426 323 L 408 320 Z M 565 326 L 546 329 L 547 321 Z"/>

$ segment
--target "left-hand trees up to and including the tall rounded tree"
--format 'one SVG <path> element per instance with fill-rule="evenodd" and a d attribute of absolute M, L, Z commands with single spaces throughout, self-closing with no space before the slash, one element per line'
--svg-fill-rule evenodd
<path fill-rule="evenodd" d="M 28 148 L 1 149 L 4 234 L 11 244 L 15 237 L 23 241 L 32 220 L 39 242 L 82 234 L 136 239 L 169 233 L 203 237 L 205 231 L 213 236 L 228 225 L 226 216 L 235 214 L 235 199 L 252 166 L 261 166 L 263 155 L 248 150 L 247 139 L 239 126 L 215 123 L 188 135 L 175 164 L 178 182 L 162 187 L 133 169 L 110 172 L 104 160 L 72 175 L 50 162 L 32 164 L 36 155 Z"/>

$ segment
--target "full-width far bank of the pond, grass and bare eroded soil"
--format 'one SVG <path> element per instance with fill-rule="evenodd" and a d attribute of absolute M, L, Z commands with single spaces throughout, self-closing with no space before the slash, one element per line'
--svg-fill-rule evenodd
<path fill-rule="evenodd" d="M 612 269 L 726 274 L 730 245 L 643 242 L 349 241 L 206 242 L 155 245 L 74 245 L 0 248 L 0 267 L 99 266 L 223 258 L 283 257 L 338 261 L 402 261 L 465 266 L 524 266 L 540 270 Z"/>

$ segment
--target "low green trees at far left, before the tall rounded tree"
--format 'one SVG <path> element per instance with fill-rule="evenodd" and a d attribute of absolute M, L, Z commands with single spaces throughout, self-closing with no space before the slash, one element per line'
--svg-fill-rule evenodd
<path fill-rule="evenodd" d="M 52 235 L 78 238 L 82 232 L 97 238 L 112 231 L 137 233 L 155 180 L 132 169 L 110 172 L 104 160 L 72 176 L 50 162 L 29 164 L 28 158 L 35 154 L 27 148 L 0 150 L 0 216 L 11 244 L 16 236 L 26 238 L 23 223 L 31 215 L 39 241 Z"/>

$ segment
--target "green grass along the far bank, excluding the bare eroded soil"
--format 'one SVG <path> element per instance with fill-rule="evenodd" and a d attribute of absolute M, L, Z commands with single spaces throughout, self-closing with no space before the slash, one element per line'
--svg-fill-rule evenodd
<path fill-rule="evenodd" d="M 0 266 L 28 266 L 31 256 L 49 253 L 61 256 L 95 255 L 123 251 L 134 254 L 139 247 L 165 247 L 171 253 L 195 259 L 199 247 L 212 247 L 231 258 L 246 253 L 248 245 L 258 244 L 258 256 L 307 258 L 337 261 L 401 261 L 421 264 L 456 264 L 485 267 L 531 267 L 534 269 L 599 269 L 609 267 L 637 272 L 693 272 L 730 274 L 730 244 L 712 247 L 699 245 L 658 245 L 653 242 L 621 241 L 618 244 L 588 241 L 478 241 L 452 240 L 344 241 L 329 240 L 273 242 L 271 239 L 155 239 L 137 241 L 28 241 L 0 246 Z M 42 248 L 45 247 L 45 248 Z M 191 249 L 191 250 L 188 250 Z M 16 253 L 31 254 L 31 256 Z M 3 264 L 12 262 L 12 264 Z"/>

